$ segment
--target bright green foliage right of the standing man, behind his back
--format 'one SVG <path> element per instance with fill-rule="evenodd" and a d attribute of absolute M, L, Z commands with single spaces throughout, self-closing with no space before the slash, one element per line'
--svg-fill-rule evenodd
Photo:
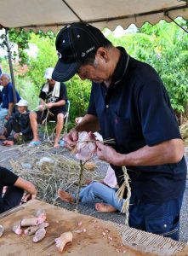
<path fill-rule="evenodd" d="M 187 21 L 177 19 L 181 26 Z M 161 20 L 152 26 L 145 23 L 138 32 L 122 38 L 109 37 L 115 45 L 122 45 L 128 53 L 154 67 L 171 98 L 176 112 L 183 113 L 188 102 L 188 37 L 175 25 Z"/>

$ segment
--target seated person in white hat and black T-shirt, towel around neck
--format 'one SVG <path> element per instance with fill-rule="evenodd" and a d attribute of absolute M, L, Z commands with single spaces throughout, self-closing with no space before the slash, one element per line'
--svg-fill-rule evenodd
<path fill-rule="evenodd" d="M 38 146 L 41 142 L 38 137 L 37 124 L 42 124 L 43 120 L 54 120 L 56 125 L 56 136 L 54 138 L 54 148 L 60 148 L 60 133 L 64 125 L 64 117 L 66 114 L 66 84 L 55 82 L 52 79 L 53 67 L 48 67 L 44 74 L 47 83 L 43 84 L 40 92 L 40 105 L 37 112 L 30 113 L 31 129 L 33 132 L 33 140 L 29 146 Z"/>

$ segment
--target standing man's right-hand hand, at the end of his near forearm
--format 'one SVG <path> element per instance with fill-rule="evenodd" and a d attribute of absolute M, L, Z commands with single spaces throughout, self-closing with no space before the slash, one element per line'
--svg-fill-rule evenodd
<path fill-rule="evenodd" d="M 109 146 L 105 146 L 103 143 L 96 142 L 97 145 L 97 155 L 100 160 L 104 160 L 105 162 L 112 164 L 114 166 L 121 166 L 119 163 L 119 154 L 114 148 Z"/>

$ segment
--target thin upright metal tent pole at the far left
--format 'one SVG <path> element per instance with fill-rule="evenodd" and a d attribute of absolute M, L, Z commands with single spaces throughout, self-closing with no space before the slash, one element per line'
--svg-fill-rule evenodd
<path fill-rule="evenodd" d="M 14 96 L 14 103 L 17 103 L 17 97 L 15 92 L 15 83 L 14 83 L 14 73 L 13 73 L 13 63 L 11 58 L 11 51 L 10 51 L 10 45 L 9 45 L 9 29 L 5 28 L 5 40 L 7 44 L 7 52 L 8 52 L 8 58 L 9 58 L 9 70 L 10 70 L 10 76 L 13 84 L 13 96 Z"/>

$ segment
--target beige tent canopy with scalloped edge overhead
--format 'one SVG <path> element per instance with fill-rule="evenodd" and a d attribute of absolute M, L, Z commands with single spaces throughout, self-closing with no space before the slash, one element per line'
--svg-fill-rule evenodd
<path fill-rule="evenodd" d="M 164 11 L 175 19 L 188 18 L 188 1 L 185 0 L 6 0 L 0 3 L 0 26 L 25 27 L 34 31 L 52 30 L 76 21 L 87 21 L 103 29 L 114 30 L 131 23 L 142 26 L 168 20 Z"/>

